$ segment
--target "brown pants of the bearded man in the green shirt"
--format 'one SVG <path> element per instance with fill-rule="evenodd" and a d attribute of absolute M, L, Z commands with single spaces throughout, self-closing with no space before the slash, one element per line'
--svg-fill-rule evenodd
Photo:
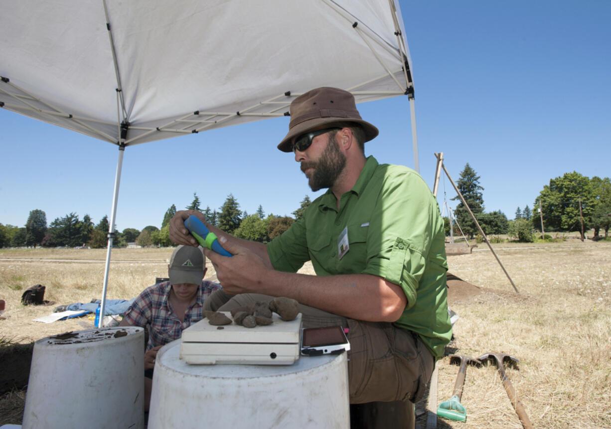
<path fill-rule="evenodd" d="M 210 295 L 205 310 L 230 311 L 273 296 L 245 293 Z M 368 322 L 334 315 L 300 304 L 303 328 L 340 325 L 349 328 L 348 385 L 350 403 L 404 401 L 422 398 L 434 359 L 420 337 L 392 323 Z"/>

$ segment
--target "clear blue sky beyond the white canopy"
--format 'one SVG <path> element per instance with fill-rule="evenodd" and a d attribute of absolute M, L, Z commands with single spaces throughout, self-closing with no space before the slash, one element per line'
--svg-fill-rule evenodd
<path fill-rule="evenodd" d="M 577 171 L 610 177 L 611 2 L 402 1 L 413 62 L 420 174 L 433 186 L 435 152 L 458 180 L 480 175 L 486 211 L 513 219 L 551 178 Z M 407 97 L 360 104 L 381 131 L 365 145 L 381 163 L 414 166 Z M 291 215 L 307 180 L 277 142 L 279 118 L 128 147 L 117 228 L 161 226 L 170 205 Z M 114 145 L 0 109 L 0 222 L 24 226 L 29 211 L 48 223 L 75 212 L 95 223 L 111 214 Z M 442 179 L 439 203 L 455 208 Z"/>

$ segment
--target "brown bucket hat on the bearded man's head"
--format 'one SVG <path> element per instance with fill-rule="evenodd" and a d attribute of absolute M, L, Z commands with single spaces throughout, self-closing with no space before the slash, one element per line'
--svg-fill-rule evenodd
<path fill-rule="evenodd" d="M 292 152 L 293 139 L 311 131 L 331 128 L 334 123 L 355 122 L 365 131 L 365 142 L 378 135 L 378 128 L 360 119 L 354 96 L 339 88 L 321 87 L 299 95 L 291 103 L 288 134 L 278 145 L 282 152 Z"/>

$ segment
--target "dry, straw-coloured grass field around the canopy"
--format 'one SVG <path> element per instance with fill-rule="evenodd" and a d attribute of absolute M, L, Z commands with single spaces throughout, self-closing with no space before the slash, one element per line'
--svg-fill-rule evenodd
<path fill-rule="evenodd" d="M 450 308 L 459 315 L 451 350 L 474 358 L 488 352 L 518 358 L 518 369 L 508 367 L 507 376 L 536 428 L 611 427 L 611 243 L 493 246 L 519 293 L 485 244 L 470 255 L 448 257 L 450 273 L 473 285 L 448 290 Z M 165 276 L 171 252 L 114 249 L 108 298 L 133 298 L 155 277 Z M 0 339 L 28 343 L 84 329 L 91 323 L 87 318 L 32 320 L 59 304 L 100 298 L 105 255 L 94 249 L 0 251 L 0 299 L 7 307 L 0 317 Z M 21 294 L 35 284 L 46 286 L 45 299 L 53 304 L 21 305 Z M 452 395 L 458 367 L 449 362 L 444 358 L 438 364 L 437 403 Z M 4 395 L 0 425 L 19 423 L 2 414 L 7 407 L 22 406 L 23 398 L 19 391 Z M 439 419 L 437 427 L 521 427 L 494 365 L 467 369 L 461 403 L 467 421 Z M 419 409 L 424 405 L 419 403 Z M 418 420 L 424 421 L 425 416 Z"/>

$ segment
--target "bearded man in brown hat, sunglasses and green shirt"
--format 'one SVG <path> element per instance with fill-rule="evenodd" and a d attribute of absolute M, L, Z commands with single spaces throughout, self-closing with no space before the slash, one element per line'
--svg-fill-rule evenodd
<path fill-rule="evenodd" d="M 378 129 L 349 92 L 310 90 L 293 100 L 290 116 L 278 149 L 295 154 L 314 191 L 328 191 L 268 244 L 207 224 L 233 257 L 204 249 L 223 285 L 206 307 L 294 298 L 304 328 L 349 328 L 351 403 L 416 402 L 452 336 L 437 201 L 412 169 L 365 156 Z M 170 238 L 194 246 L 183 223 L 189 215 L 205 222 L 197 211 L 179 211 Z M 296 274 L 308 260 L 317 275 Z"/>

